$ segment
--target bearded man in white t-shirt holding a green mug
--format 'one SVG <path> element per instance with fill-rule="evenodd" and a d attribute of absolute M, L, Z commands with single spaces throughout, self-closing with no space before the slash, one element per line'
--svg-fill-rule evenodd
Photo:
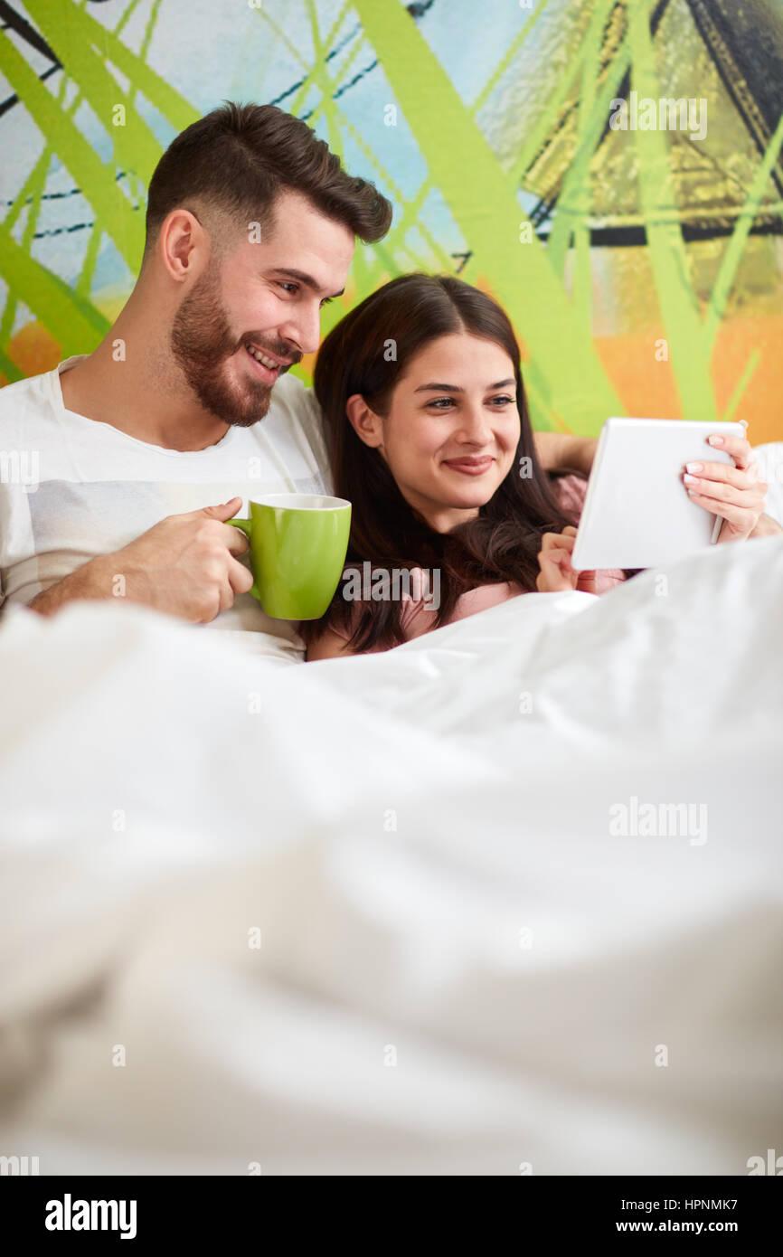
<path fill-rule="evenodd" d="M 300 659 L 297 626 L 249 595 L 248 542 L 226 520 L 245 498 L 329 491 L 318 407 L 285 372 L 318 348 L 356 238 L 380 240 L 391 216 L 274 106 L 226 103 L 183 131 L 152 176 L 141 273 L 108 336 L 0 390 L 0 449 L 40 468 L 0 484 L 0 602 L 50 615 L 124 597 Z M 547 434 L 539 449 L 584 464 L 589 445 Z"/>

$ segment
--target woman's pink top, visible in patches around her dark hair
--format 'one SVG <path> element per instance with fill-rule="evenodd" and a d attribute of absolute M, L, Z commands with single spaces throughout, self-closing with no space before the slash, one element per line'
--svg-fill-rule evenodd
<path fill-rule="evenodd" d="M 554 484 L 558 490 L 558 498 L 561 505 L 564 510 L 573 510 L 574 514 L 581 513 L 584 504 L 584 494 L 587 491 L 587 481 L 582 480 L 577 475 L 561 476 Z M 426 577 L 421 569 L 413 568 L 412 572 L 419 572 L 419 579 L 424 582 L 424 588 L 426 590 Z M 411 573 L 412 576 L 412 573 Z M 607 593 L 608 590 L 613 590 L 616 585 L 625 581 L 625 574 L 622 571 L 602 571 L 602 572 L 582 572 L 579 574 L 579 581 L 577 582 L 577 590 L 583 590 L 588 593 Z M 416 588 L 416 581 L 412 579 L 411 585 Z M 456 620 L 464 620 L 466 616 L 473 616 L 476 611 L 486 611 L 488 607 L 496 607 L 500 602 L 508 602 L 509 598 L 517 598 L 522 593 L 529 591 L 523 590 L 522 586 L 513 581 L 501 581 L 495 585 L 479 585 L 475 590 L 468 590 L 463 593 L 454 606 L 454 611 L 449 616 L 445 623 L 454 623 Z M 435 628 L 435 622 L 437 618 L 437 608 L 427 605 L 432 600 L 425 597 L 413 598 L 410 595 L 402 595 L 401 601 L 403 602 L 401 626 L 405 634 L 405 640 L 410 641 L 412 637 L 421 637 L 422 634 L 430 632 Z M 356 602 L 356 612 L 358 616 L 358 610 L 362 606 L 361 602 Z M 356 617 L 354 617 L 356 622 Z M 337 634 L 338 637 L 344 637 L 346 641 L 353 635 L 353 627 L 351 628 L 337 628 L 329 626 L 332 632 Z M 386 646 L 373 646 L 367 654 L 375 651 L 386 650 Z"/>

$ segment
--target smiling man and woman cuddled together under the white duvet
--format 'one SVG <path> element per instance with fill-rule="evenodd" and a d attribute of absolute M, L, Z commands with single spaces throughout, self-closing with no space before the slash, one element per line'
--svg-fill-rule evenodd
<path fill-rule="evenodd" d="M 594 442 L 533 436 L 512 327 L 490 298 L 401 277 L 327 337 L 317 400 L 285 373 L 318 349 L 356 239 L 382 239 L 391 215 L 274 106 L 226 103 L 182 132 L 152 176 L 141 273 L 104 339 L 0 390 L 0 605 L 50 615 L 119 597 L 300 660 L 305 644 L 312 659 L 386 649 L 517 593 L 573 587 Z M 726 541 L 774 527 L 747 441 L 728 447 L 735 466 L 706 463 L 689 485 Z M 431 587 L 357 602 L 341 586 L 323 621 L 302 626 L 307 642 L 271 621 L 226 520 L 285 491 L 349 498 L 349 564 Z"/>

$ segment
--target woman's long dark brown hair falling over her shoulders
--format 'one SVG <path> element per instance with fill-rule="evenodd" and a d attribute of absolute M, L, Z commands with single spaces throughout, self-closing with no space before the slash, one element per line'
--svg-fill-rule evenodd
<path fill-rule="evenodd" d="M 476 518 L 450 533 L 436 533 L 416 514 L 377 449 L 357 436 L 346 402 L 359 393 L 376 415 L 391 409 L 395 385 L 413 356 L 442 336 L 468 332 L 500 346 L 514 363 L 520 437 L 508 475 Z M 320 346 L 315 362 L 315 397 L 324 432 L 334 493 L 353 503 L 347 563 L 372 568 L 440 568 L 440 608 L 435 627 L 445 623 L 460 595 L 478 585 L 517 582 L 534 590 L 538 552 L 545 532 L 561 532 L 577 518 L 557 499 L 550 478 L 535 456 L 519 347 L 496 302 L 450 275 L 411 274 L 392 279 L 346 314 Z M 529 460 L 529 461 L 520 461 Z M 523 476 L 524 468 L 524 476 Z M 405 640 L 400 601 L 357 603 L 338 586 L 326 615 L 303 623 L 313 641 L 326 627 L 352 628 L 349 649 L 388 647 Z"/>

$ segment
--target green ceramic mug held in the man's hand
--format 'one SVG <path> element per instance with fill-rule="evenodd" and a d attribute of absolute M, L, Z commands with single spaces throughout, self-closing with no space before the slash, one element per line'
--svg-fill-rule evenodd
<path fill-rule="evenodd" d="M 314 493 L 273 493 L 229 519 L 250 542 L 258 598 L 273 620 L 318 620 L 339 583 L 348 549 L 351 503 Z"/>

